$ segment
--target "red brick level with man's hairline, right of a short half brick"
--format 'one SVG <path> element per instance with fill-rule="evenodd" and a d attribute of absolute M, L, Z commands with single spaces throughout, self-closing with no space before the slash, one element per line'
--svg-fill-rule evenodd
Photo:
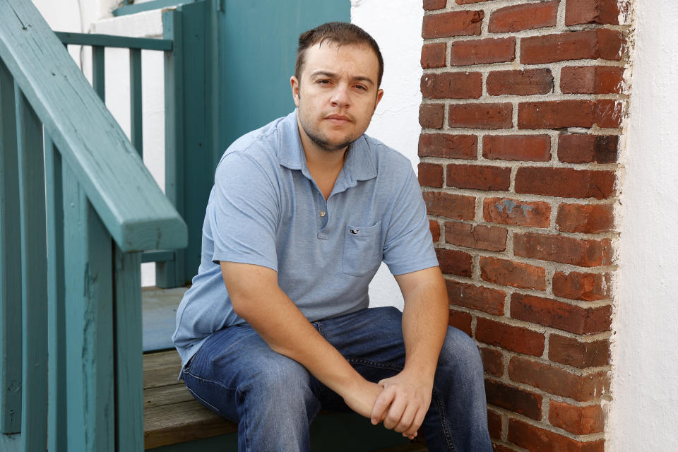
<path fill-rule="evenodd" d="M 450 44 L 450 65 L 501 63 L 516 59 L 516 38 L 465 40 Z"/>

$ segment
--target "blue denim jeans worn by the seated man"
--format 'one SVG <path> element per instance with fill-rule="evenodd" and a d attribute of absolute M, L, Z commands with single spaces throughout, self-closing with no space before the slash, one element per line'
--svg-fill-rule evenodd
<path fill-rule="evenodd" d="M 381 307 L 313 325 L 359 374 L 376 382 L 405 364 L 401 318 L 398 309 Z M 248 325 L 211 335 L 184 369 L 184 381 L 200 403 L 238 422 L 240 451 L 308 451 L 309 425 L 319 410 L 347 410 L 337 393 L 270 350 Z M 419 432 L 429 451 L 492 452 L 480 354 L 456 328 L 448 328 Z"/>

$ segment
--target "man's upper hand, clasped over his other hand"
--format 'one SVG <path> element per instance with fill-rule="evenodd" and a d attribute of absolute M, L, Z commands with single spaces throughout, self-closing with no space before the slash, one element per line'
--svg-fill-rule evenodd
<path fill-rule="evenodd" d="M 431 405 L 433 381 L 422 382 L 403 371 L 379 381 L 379 386 L 383 387 L 383 391 L 372 408 L 372 424 L 383 421 L 387 429 L 414 439 Z"/>

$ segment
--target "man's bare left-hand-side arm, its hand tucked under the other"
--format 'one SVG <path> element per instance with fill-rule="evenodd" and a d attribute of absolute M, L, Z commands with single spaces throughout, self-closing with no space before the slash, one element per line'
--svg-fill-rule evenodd
<path fill-rule="evenodd" d="M 316 331 L 278 286 L 278 273 L 263 266 L 221 262 L 233 310 L 256 330 L 271 350 L 294 359 L 343 397 L 359 415 L 369 417 L 381 386 L 360 376 Z"/>

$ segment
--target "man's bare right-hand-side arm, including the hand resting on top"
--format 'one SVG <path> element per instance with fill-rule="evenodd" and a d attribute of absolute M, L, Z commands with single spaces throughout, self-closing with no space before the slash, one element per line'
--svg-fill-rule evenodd
<path fill-rule="evenodd" d="M 410 438 L 424 421 L 433 391 L 438 355 L 448 323 L 448 299 L 439 267 L 396 275 L 405 298 L 403 340 L 405 368 L 379 382 L 384 390 L 371 412 L 371 422 Z"/>

